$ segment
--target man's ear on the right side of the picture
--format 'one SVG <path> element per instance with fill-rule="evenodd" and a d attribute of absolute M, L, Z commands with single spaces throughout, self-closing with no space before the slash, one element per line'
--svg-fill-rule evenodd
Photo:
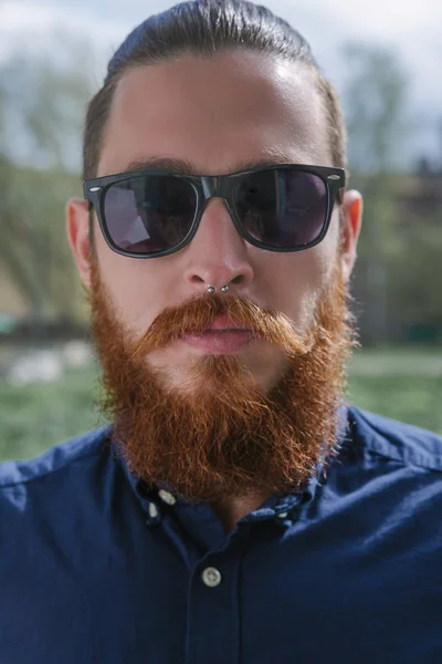
<path fill-rule="evenodd" d="M 344 194 L 341 205 L 341 243 L 340 260 L 343 261 L 343 274 L 346 282 L 349 281 L 357 257 L 357 245 L 362 224 L 362 196 L 356 189 Z"/>

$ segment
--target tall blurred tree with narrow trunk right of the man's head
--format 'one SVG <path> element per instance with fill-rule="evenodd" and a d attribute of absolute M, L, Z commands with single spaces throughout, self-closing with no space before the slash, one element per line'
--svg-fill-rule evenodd
<path fill-rule="evenodd" d="M 387 174 L 400 160 L 407 132 L 407 76 L 394 54 L 378 46 L 349 44 L 345 61 L 349 167 L 356 174 L 365 174 L 365 214 L 357 268 L 359 278 L 365 272 L 361 324 L 365 342 L 376 343 L 388 336 L 386 252 L 394 241 L 391 230 L 394 210 Z M 357 176 L 352 184 L 358 186 Z"/>

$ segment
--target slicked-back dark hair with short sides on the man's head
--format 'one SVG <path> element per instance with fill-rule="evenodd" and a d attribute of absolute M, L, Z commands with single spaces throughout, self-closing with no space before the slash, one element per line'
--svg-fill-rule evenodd
<path fill-rule="evenodd" d="M 109 61 L 103 87 L 87 108 L 83 179 L 96 177 L 114 92 L 127 70 L 159 64 L 183 53 L 210 58 L 235 49 L 278 56 L 311 68 L 324 101 L 333 163 L 345 168 L 346 131 L 339 98 L 299 32 L 265 7 L 246 0 L 194 0 L 176 4 L 140 23 Z"/>

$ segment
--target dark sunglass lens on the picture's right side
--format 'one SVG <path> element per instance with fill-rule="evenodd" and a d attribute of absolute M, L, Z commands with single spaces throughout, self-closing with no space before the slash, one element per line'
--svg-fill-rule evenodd
<path fill-rule="evenodd" d="M 235 209 L 245 232 L 275 249 L 314 242 L 327 216 L 327 188 L 312 173 L 269 169 L 241 178 Z"/>

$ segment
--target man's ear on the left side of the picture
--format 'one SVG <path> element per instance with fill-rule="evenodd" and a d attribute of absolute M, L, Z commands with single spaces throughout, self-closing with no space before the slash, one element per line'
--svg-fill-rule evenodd
<path fill-rule="evenodd" d="M 66 231 L 80 277 L 86 288 L 91 286 L 91 258 L 88 201 L 71 198 L 66 205 Z"/>

